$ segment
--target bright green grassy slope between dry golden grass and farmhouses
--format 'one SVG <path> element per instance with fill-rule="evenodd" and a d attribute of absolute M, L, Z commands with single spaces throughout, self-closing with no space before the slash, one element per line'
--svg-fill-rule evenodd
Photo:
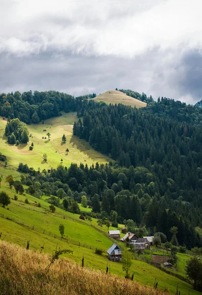
<path fill-rule="evenodd" d="M 11 190 L 8 185 L 2 183 L 1 189 L 9 192 L 10 197 L 14 196 L 14 190 Z M 49 207 L 49 204 L 44 202 L 44 198 L 42 200 L 38 200 L 32 196 L 27 195 L 29 202 L 34 204 L 34 201 L 37 203 L 41 203 L 41 208 L 35 207 L 34 205 L 22 205 L 24 204 L 25 196 L 18 195 L 18 201 L 12 200 L 9 205 L 9 210 L 6 208 L 0 207 L 0 213 L 8 214 L 14 216 L 15 219 L 19 218 L 28 223 L 35 224 L 43 229 L 51 231 L 56 235 L 59 235 L 58 226 L 60 223 L 65 226 L 65 238 L 72 237 L 75 240 L 90 243 L 94 247 L 103 248 L 107 250 L 108 247 L 111 246 L 112 241 L 108 239 L 106 236 L 102 235 L 102 233 L 97 232 L 93 229 L 87 221 L 81 223 L 72 221 L 71 218 L 80 220 L 79 215 L 72 214 L 70 212 L 65 212 L 62 209 L 57 208 L 56 213 L 50 213 L 46 211 L 46 208 Z M 65 219 L 63 217 L 65 216 Z M 81 220 L 80 220 L 81 221 Z M 92 223 L 96 225 L 96 220 L 93 219 Z M 113 228 L 110 228 L 113 229 Z M 107 232 L 107 229 L 103 227 L 103 231 Z M 49 254 L 53 253 L 56 245 L 58 243 L 58 247 L 60 248 L 71 248 L 74 253 L 70 255 L 70 258 L 74 261 L 81 264 L 82 257 L 85 257 L 85 266 L 89 266 L 95 269 L 106 269 L 106 264 L 108 262 L 108 258 L 106 252 L 102 255 L 96 255 L 94 250 L 87 249 L 85 247 L 77 246 L 70 242 L 66 242 L 65 239 L 57 239 L 42 233 L 37 233 L 34 230 L 16 224 L 13 221 L 7 220 L 5 218 L 0 217 L 0 232 L 2 232 L 1 238 L 4 238 L 5 241 L 14 242 L 18 245 L 23 245 L 24 242 L 27 242 L 27 239 L 30 237 L 30 249 L 40 250 L 40 247 L 44 245 L 44 252 Z M 96 241 L 100 240 L 99 241 Z M 122 265 L 119 263 L 110 262 L 111 265 L 111 273 L 124 276 L 124 272 L 122 271 Z M 187 293 L 188 290 L 192 289 L 191 286 L 173 276 L 167 275 L 162 272 L 158 268 L 154 266 L 150 266 L 142 261 L 133 260 L 133 264 L 131 267 L 131 273 L 134 272 L 134 280 L 140 282 L 144 285 L 152 286 L 155 278 L 158 280 L 158 287 L 161 289 L 168 288 L 172 293 L 175 292 L 176 284 L 179 284 L 179 290 L 183 293 Z M 199 294 L 195 291 L 191 291 L 190 294 Z"/>

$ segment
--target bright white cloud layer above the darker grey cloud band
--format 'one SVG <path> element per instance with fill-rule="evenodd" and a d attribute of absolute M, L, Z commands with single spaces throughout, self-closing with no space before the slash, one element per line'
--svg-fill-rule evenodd
<path fill-rule="evenodd" d="M 180 44 L 202 45 L 200 0 L 2 3 L 0 50 L 12 54 L 40 53 L 52 48 L 133 58 L 156 46 L 167 50 Z"/>

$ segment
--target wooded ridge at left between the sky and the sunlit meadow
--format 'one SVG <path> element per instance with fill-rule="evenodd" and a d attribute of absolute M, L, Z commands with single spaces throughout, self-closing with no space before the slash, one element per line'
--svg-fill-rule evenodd
<path fill-rule="evenodd" d="M 75 112 L 82 109 L 82 100 L 94 98 L 95 93 L 74 98 L 66 93 L 58 91 L 28 91 L 20 93 L 16 91 L 0 94 L 0 116 L 19 118 L 29 123 L 39 123 L 47 118 L 60 116 L 60 111 Z"/>

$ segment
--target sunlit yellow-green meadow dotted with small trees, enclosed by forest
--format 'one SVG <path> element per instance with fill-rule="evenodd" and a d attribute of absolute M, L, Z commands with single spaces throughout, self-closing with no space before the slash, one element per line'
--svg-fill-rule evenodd
<path fill-rule="evenodd" d="M 10 174 L 10 171 L 15 172 L 20 162 L 36 170 L 56 168 L 59 163 L 69 167 L 72 162 L 78 165 L 81 162 L 88 165 L 109 162 L 110 158 L 95 151 L 85 140 L 72 134 L 73 124 L 77 119 L 76 113 L 63 113 L 61 117 L 45 120 L 44 124 L 30 124 L 28 125 L 29 134 L 31 134 L 29 143 L 12 146 L 6 143 L 7 138 L 4 136 L 7 121 L 0 118 L 0 152 L 6 155 L 8 162 L 7 168 L 3 171 L 4 164 L 1 163 L 0 172 L 4 175 Z M 51 133 L 50 141 L 46 135 L 47 132 Z M 65 134 L 66 143 L 62 143 L 63 134 Z M 32 142 L 33 150 L 29 150 Z M 47 154 L 47 163 L 43 159 L 44 153 Z"/>

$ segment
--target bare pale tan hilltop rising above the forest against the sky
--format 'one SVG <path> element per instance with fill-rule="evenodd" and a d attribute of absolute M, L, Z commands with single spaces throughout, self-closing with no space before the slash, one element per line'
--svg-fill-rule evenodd
<path fill-rule="evenodd" d="M 106 91 L 95 98 L 93 98 L 95 101 L 104 101 L 106 103 L 112 103 L 112 104 L 118 104 L 122 103 L 126 106 L 132 106 L 136 107 L 137 109 L 145 107 L 146 103 L 143 101 L 140 101 L 136 98 L 133 98 L 131 96 L 126 95 L 125 93 L 117 90 L 109 90 Z"/>

